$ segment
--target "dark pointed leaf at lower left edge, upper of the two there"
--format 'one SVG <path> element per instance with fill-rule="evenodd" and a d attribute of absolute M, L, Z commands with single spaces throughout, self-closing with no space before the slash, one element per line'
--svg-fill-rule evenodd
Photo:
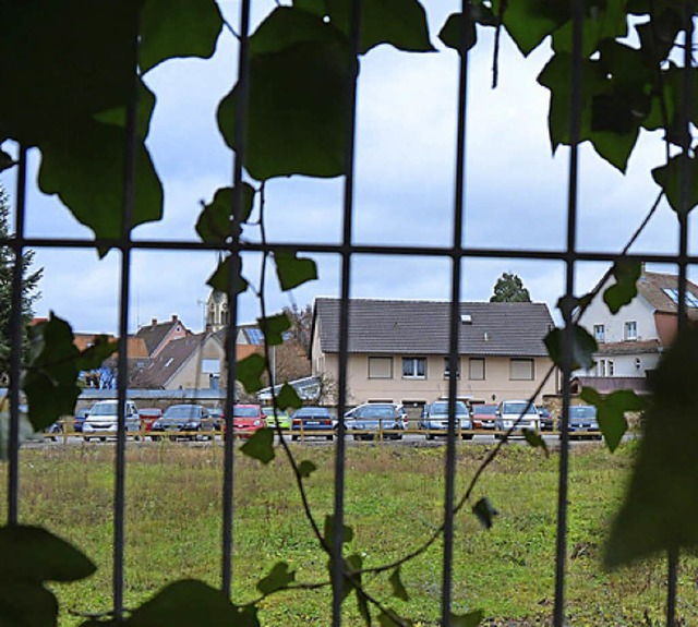
<path fill-rule="evenodd" d="M 77 581 L 96 566 L 83 553 L 41 527 L 0 528 L 0 588 L 11 582 Z"/>

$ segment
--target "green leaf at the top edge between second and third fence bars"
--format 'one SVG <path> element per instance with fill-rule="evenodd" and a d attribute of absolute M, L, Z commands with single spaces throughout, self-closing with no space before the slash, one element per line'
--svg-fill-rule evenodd
<path fill-rule="evenodd" d="M 141 11 L 142 72 L 172 57 L 208 59 L 221 28 L 215 0 L 146 0 Z"/>

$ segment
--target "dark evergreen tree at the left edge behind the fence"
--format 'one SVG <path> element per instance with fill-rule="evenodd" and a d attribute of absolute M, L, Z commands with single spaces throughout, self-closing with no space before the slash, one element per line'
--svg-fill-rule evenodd
<path fill-rule="evenodd" d="M 0 240 L 12 237 L 10 229 L 10 202 L 0 185 Z M 26 326 L 34 316 L 33 305 L 39 298 L 37 286 L 44 274 L 39 268 L 31 272 L 34 251 L 25 251 L 22 255 L 22 318 L 23 345 L 26 348 Z M 0 245 L 0 375 L 4 378 L 9 370 L 10 347 L 12 342 L 12 276 L 14 273 L 14 253 L 8 245 Z"/>

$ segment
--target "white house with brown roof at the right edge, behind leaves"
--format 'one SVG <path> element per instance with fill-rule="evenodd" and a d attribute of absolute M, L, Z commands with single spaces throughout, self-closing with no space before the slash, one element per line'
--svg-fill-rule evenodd
<path fill-rule="evenodd" d="M 643 269 L 636 286 L 637 297 L 616 315 L 603 302 L 605 286 L 602 287 L 581 317 L 580 324 L 599 345 L 593 355 L 594 367 L 576 373 L 585 385 L 609 391 L 613 388 L 645 391 L 647 375 L 673 341 L 678 321 L 678 277 Z M 686 290 L 687 314 L 698 319 L 698 286 L 687 281 Z"/>

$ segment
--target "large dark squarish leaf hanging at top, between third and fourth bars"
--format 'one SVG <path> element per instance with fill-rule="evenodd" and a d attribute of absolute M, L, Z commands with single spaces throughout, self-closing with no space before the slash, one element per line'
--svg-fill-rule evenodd
<path fill-rule="evenodd" d="M 348 88 L 357 60 L 350 58 L 347 38 L 337 28 L 306 11 L 292 13 L 303 26 L 309 19 L 315 20 L 322 40 L 317 36 L 251 56 L 244 166 L 258 181 L 346 172 Z M 277 14 L 275 11 L 268 20 Z M 239 147 L 234 136 L 238 99 L 236 86 L 218 107 L 218 128 L 233 150 Z"/>

